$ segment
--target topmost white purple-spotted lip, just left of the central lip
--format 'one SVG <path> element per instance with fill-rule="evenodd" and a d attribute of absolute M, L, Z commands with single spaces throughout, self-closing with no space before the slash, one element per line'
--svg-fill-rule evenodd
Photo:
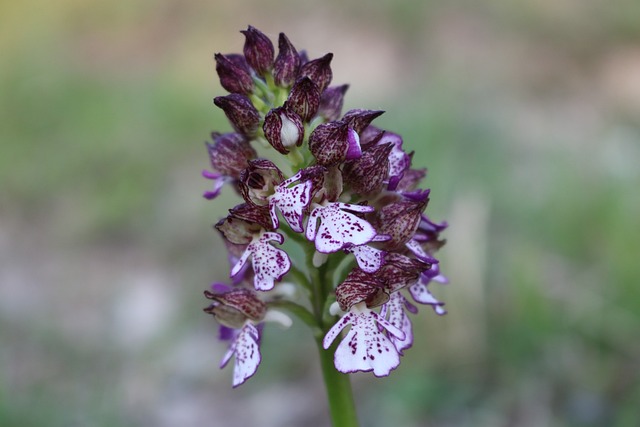
<path fill-rule="evenodd" d="M 311 202 L 311 187 L 313 184 L 311 181 L 305 181 L 288 188 L 291 183 L 299 180 L 300 176 L 301 173 L 298 172 L 293 177 L 282 182 L 282 184 L 276 187 L 275 193 L 269 198 L 271 220 L 273 221 L 274 228 L 278 228 L 279 226 L 278 215 L 276 214 L 276 207 L 278 207 L 291 229 L 296 233 L 302 233 L 303 214 Z"/>

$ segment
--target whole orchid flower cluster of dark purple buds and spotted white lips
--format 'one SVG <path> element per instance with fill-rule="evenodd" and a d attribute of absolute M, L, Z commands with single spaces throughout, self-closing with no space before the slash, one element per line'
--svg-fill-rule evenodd
<path fill-rule="evenodd" d="M 426 172 L 399 135 L 371 124 L 382 111 L 342 113 L 348 86 L 330 85 L 331 53 L 309 60 L 281 33 L 276 55 L 259 30 L 242 33 L 243 55 L 215 55 L 230 94 L 214 103 L 233 132 L 212 134 L 203 172 L 205 198 L 229 187 L 243 199 L 215 225 L 232 285 L 205 292 L 230 341 L 222 366 L 235 356 L 234 386 L 256 372 L 262 324 L 287 323 L 280 307 L 335 348 L 339 371 L 388 375 L 412 345 L 413 303 L 445 313 L 429 285 L 446 283 L 434 258 L 446 223 L 424 213 Z"/>

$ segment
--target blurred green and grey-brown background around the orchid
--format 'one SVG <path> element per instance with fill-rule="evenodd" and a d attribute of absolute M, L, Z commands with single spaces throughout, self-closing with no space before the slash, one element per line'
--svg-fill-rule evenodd
<path fill-rule="evenodd" d="M 325 426 L 313 340 L 230 387 L 202 142 L 252 24 L 335 54 L 446 219 L 442 318 L 363 426 L 640 425 L 640 2 L 0 2 L 0 425 Z"/>

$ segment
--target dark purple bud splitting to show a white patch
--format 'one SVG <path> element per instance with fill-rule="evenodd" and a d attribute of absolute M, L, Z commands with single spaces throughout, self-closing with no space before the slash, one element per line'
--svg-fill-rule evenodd
<path fill-rule="evenodd" d="M 269 144 L 282 154 L 288 154 L 289 147 L 302 145 L 304 138 L 302 119 L 287 103 L 267 113 L 262 130 Z"/>

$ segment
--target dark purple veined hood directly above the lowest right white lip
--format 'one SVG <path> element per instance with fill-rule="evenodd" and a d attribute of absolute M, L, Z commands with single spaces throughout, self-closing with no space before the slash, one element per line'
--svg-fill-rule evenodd
<path fill-rule="evenodd" d="M 336 288 L 336 301 L 342 311 L 349 311 L 352 306 L 363 301 L 369 308 L 378 307 L 389 301 L 389 294 L 383 286 L 375 274 L 356 267 Z"/>

